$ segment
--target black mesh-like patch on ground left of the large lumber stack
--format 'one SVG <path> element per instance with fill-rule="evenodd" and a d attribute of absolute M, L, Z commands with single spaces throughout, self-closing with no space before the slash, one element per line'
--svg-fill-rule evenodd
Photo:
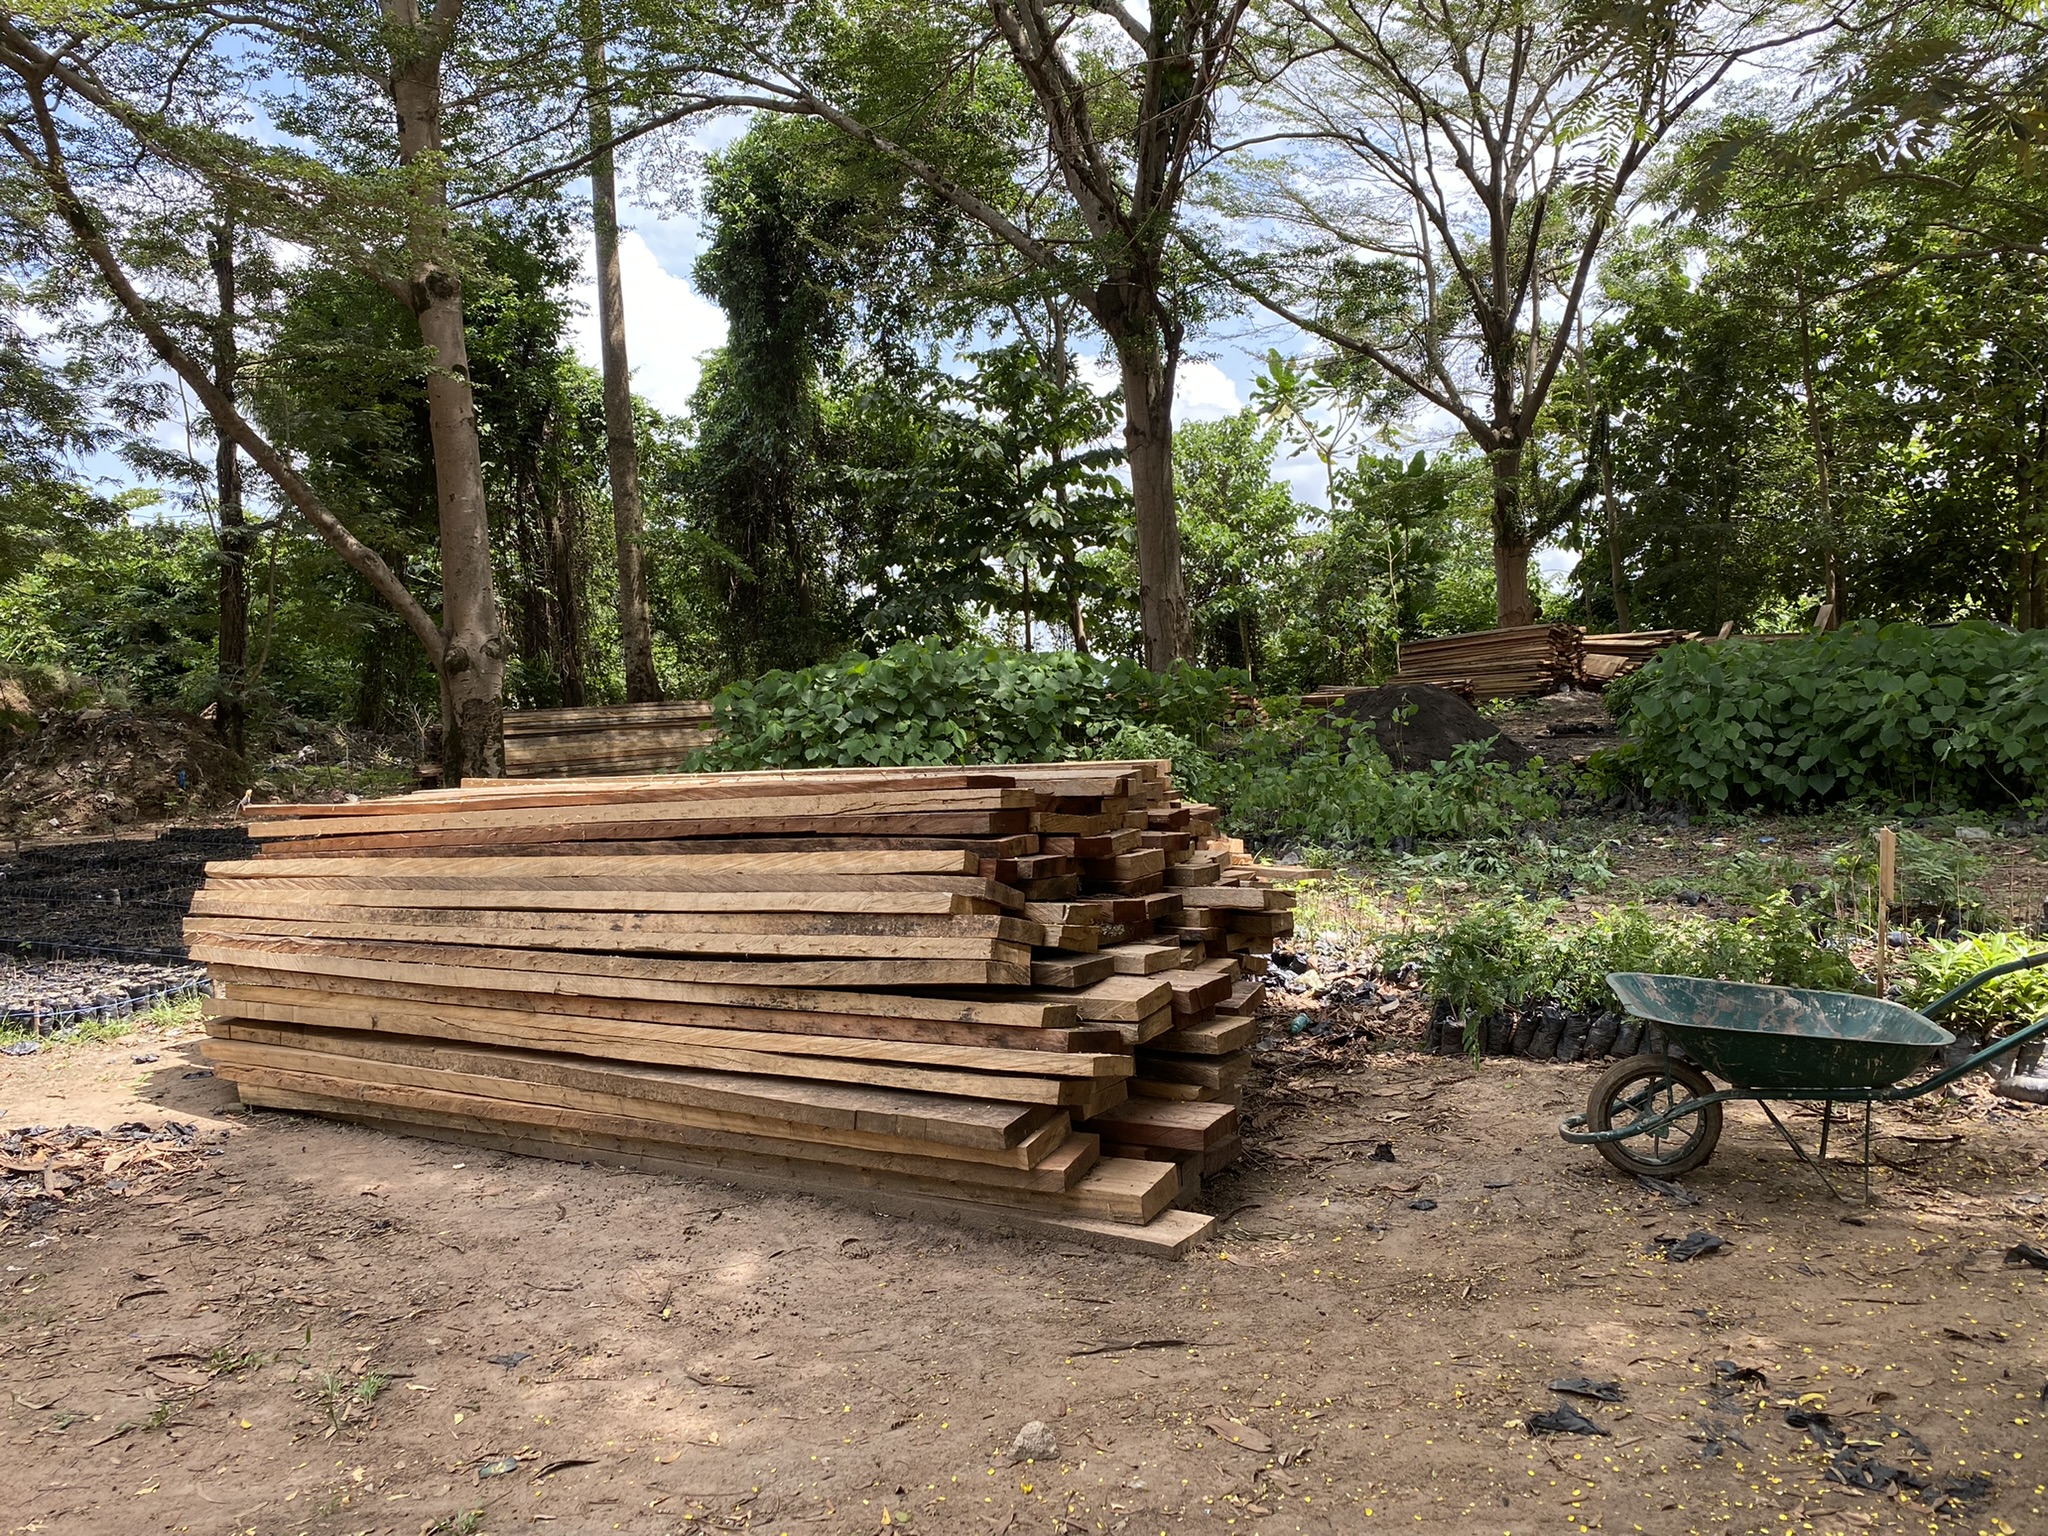
<path fill-rule="evenodd" d="M 0 1032 L 61 1034 L 205 993 L 184 909 L 207 862 L 248 854 L 240 827 L 0 854 Z"/>

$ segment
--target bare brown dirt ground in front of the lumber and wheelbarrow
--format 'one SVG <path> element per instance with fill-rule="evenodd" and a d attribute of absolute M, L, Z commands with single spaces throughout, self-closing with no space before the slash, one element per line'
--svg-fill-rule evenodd
<path fill-rule="evenodd" d="M 1159 1264 L 197 1069 L 0 1061 L 0 1135 L 219 1137 L 0 1229 L 6 1532 L 2048 1532 L 2048 1110 L 1976 1090 L 1884 1118 L 1868 1210 L 1737 1110 L 1686 1208 L 1556 1139 L 1591 1069 L 1370 1057 L 1257 1096 Z M 1571 1376 L 1608 1434 L 1532 1436 Z"/>

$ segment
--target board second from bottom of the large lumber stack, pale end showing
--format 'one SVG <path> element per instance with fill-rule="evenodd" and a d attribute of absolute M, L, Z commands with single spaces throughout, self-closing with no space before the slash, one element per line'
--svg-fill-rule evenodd
<path fill-rule="evenodd" d="M 449 1096 L 457 1098 L 457 1096 Z M 289 1102 L 279 1102 L 289 1100 Z M 377 1106 L 358 1104 L 352 1100 L 326 1098 L 315 1094 L 291 1094 L 281 1090 L 254 1090 L 254 1098 L 246 1102 L 268 1104 L 272 1108 L 301 1110 L 313 1114 L 334 1114 L 340 1118 L 391 1118 L 410 1120 L 416 1124 L 440 1124 L 449 1130 L 475 1130 L 487 1128 L 479 1126 L 477 1120 L 459 1110 L 428 1110 L 428 1108 L 399 1108 L 389 1106 L 389 1114 L 377 1114 Z M 573 1116 L 569 1110 L 559 1110 L 563 1124 L 549 1126 L 553 1135 L 578 1135 L 590 1139 L 616 1139 L 627 1147 L 635 1143 L 643 1151 L 653 1151 L 659 1157 L 674 1159 L 678 1165 L 694 1165 L 705 1171 L 717 1174 L 770 1174 L 791 1180 L 803 1188 L 817 1188 L 821 1192 L 838 1190 L 895 1190 L 905 1194 L 940 1196 L 950 1200 L 975 1200 L 981 1204 L 995 1206 L 1018 1206 L 1024 1210 L 1038 1210 L 1047 1214 L 1061 1217 L 1094 1217 L 1120 1221 L 1128 1225 L 1145 1225 L 1180 1192 L 1180 1176 L 1171 1163 L 1141 1163 L 1137 1159 L 1106 1157 L 1098 1161 L 1071 1190 L 1061 1194 L 1042 1194 L 1036 1190 L 1006 1190 L 989 1184 L 971 1184 L 967 1180 L 948 1178 L 924 1178 L 918 1174 L 889 1174 L 870 1167 L 838 1167 L 831 1163 L 815 1163 L 797 1157 L 770 1157 L 762 1153 L 737 1153 L 737 1151 L 711 1151 L 698 1147 L 674 1147 L 670 1143 L 641 1135 L 621 1135 L 598 1124 L 575 1126 L 569 1124 Z M 592 1116 L 604 1118 L 604 1116 Z M 588 1143 L 586 1143 L 588 1145 Z M 602 1141 L 598 1141 L 602 1145 Z M 1163 1174 L 1161 1174 L 1163 1171 Z"/>

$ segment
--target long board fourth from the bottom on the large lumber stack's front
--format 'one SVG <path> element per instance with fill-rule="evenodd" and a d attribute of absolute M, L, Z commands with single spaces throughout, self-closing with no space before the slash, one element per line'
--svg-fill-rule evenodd
<path fill-rule="evenodd" d="M 207 1032 L 215 1038 L 236 1040 L 303 1040 L 313 1042 L 309 1049 L 330 1055 L 383 1057 L 426 1067 L 487 1059 L 494 1075 L 530 1081 L 553 1081 L 561 1071 L 578 1067 L 606 1083 L 623 1083 L 614 1092 L 627 1098 L 838 1130 L 868 1130 L 909 1141 L 936 1141 L 991 1155 L 1014 1151 L 1044 1126 L 1071 1118 L 1065 1110 L 1044 1104 L 1004 1104 L 944 1094 L 911 1094 L 897 1087 L 819 1083 L 801 1077 L 750 1077 L 635 1061 L 592 1061 L 526 1047 L 451 1044 L 449 1040 L 420 1040 L 373 1030 L 322 1030 L 303 1024 L 215 1018 L 209 1020 Z"/>

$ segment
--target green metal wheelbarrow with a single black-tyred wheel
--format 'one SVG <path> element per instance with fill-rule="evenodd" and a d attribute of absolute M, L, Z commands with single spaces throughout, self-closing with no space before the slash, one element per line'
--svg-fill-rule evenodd
<path fill-rule="evenodd" d="M 2048 1034 L 2048 1016 L 1993 1040 L 1946 1071 L 1907 1081 L 1956 1036 L 1935 1020 L 1982 987 L 2013 971 L 2048 965 L 2048 950 L 1982 971 L 1960 987 L 1913 1012 L 1884 997 L 1845 991 L 1763 987 L 1749 981 L 1704 981 L 1616 973 L 1608 977 L 1622 1008 L 1661 1024 L 1667 1049 L 1614 1063 L 1585 1102 L 1569 1114 L 1559 1135 L 1579 1147 L 1597 1147 L 1614 1167 L 1642 1178 L 1671 1180 L 1700 1167 L 1720 1141 L 1720 1106 L 1731 1100 L 1757 1104 L 1786 1145 L 1798 1153 L 1829 1194 L 1827 1139 L 1837 1104 L 1864 1106 L 1864 1200 L 1870 1200 L 1870 1110 L 1933 1094 L 1966 1071 L 2019 1051 Z M 1681 1047 L 1690 1061 L 1671 1057 Z M 1698 1065 L 1692 1065 L 1698 1063 Z M 1706 1071 L 1700 1071 L 1704 1067 Z M 1714 1087 L 1712 1071 L 1733 1087 Z M 1819 1102 L 1821 1153 L 1810 1157 L 1778 1118 L 1772 1102 Z"/>

